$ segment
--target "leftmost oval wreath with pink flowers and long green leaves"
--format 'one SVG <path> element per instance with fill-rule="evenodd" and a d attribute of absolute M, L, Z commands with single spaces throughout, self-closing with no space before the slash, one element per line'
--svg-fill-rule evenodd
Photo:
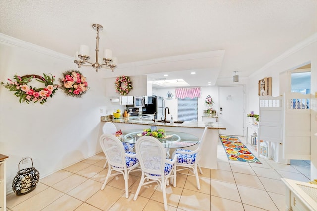
<path fill-rule="evenodd" d="M 39 101 L 41 104 L 43 104 L 46 102 L 48 97 L 52 97 L 55 94 L 59 87 L 57 84 L 53 84 L 55 81 L 55 76 L 52 76 L 52 74 L 50 75 L 51 76 L 43 73 L 44 77 L 42 77 L 34 74 L 25 76 L 19 76 L 15 74 L 15 81 L 8 79 L 9 83 L 4 84 L 1 82 L 1 84 L 10 91 L 15 91 L 14 95 L 20 97 L 20 103 L 26 102 L 29 104 L 30 102 L 36 103 Z M 29 86 L 28 83 L 34 78 L 36 81 L 43 83 L 45 88 Z"/>

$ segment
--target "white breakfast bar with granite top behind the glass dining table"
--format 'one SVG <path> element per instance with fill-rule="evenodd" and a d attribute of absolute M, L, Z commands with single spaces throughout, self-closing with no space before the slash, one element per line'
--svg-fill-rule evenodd
<path fill-rule="evenodd" d="M 144 119 L 111 119 L 106 116 L 101 117 L 102 123 L 112 122 L 117 128 L 123 130 L 143 130 L 148 129 L 151 126 L 156 126 L 158 129 L 164 129 L 165 131 L 172 131 L 175 133 L 186 132 L 201 138 L 204 128 L 207 127 L 206 140 L 204 145 L 201 146 L 202 158 L 200 160 L 201 167 L 208 169 L 218 169 L 217 167 L 217 145 L 219 140 L 219 129 L 226 129 L 219 122 L 194 122 L 194 121 L 185 121 L 183 123 L 164 123 L 164 122 L 154 122 L 153 120 L 144 120 Z M 103 127 L 103 124 L 101 124 Z M 185 149 L 194 150 L 197 148 L 197 145 L 190 147 L 184 147 Z M 171 149 L 171 154 L 172 154 Z"/>

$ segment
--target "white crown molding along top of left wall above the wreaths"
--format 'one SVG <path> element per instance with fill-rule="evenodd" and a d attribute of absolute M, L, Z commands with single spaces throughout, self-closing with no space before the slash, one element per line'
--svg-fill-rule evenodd
<path fill-rule="evenodd" d="M 36 45 L 36 44 L 32 44 L 30 42 L 25 42 L 25 41 L 19 40 L 17 38 L 8 36 L 8 35 L 3 34 L 3 33 L 0 33 L 0 42 L 1 42 L 1 44 L 3 43 L 3 44 L 6 44 L 6 45 L 14 45 L 14 46 L 17 46 L 17 47 L 21 47 L 21 48 L 25 48 L 25 49 L 28 49 L 28 50 L 32 50 L 32 51 L 35 51 L 35 52 L 38 52 L 38 53 L 41 53 L 41 54 L 45 54 L 45 55 L 48 55 L 48 56 L 52 56 L 52 57 L 55 57 L 55 58 L 58 58 L 58 59 L 62 59 L 62 60 L 65 60 L 65 61 L 74 60 L 74 58 L 71 57 L 71 56 L 67 56 L 65 54 L 58 53 L 56 51 L 50 50 L 50 49 L 45 48 L 45 47 L 41 47 L 41 46 Z"/>

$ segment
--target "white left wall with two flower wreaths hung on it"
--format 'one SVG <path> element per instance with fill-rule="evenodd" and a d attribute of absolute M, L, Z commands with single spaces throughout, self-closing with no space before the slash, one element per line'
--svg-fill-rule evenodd
<path fill-rule="evenodd" d="M 9 41 L 11 42 L 11 41 Z M 21 41 L 3 40 L 1 35 L 1 75 L 6 83 L 14 74 L 56 75 L 78 69 L 73 58 Z M 79 69 L 90 89 L 82 98 L 66 96 L 60 89 L 43 105 L 19 103 L 19 98 L 1 85 L 0 152 L 8 155 L 7 191 L 22 157 L 30 156 L 40 178 L 101 151 L 100 116 L 115 105 L 105 106 L 104 79 L 95 70 Z M 113 108 L 112 108 L 113 107 Z M 101 113 L 103 109 L 103 113 Z M 28 164 L 30 165 L 30 163 Z M 21 166 L 21 169 L 29 167 Z"/>

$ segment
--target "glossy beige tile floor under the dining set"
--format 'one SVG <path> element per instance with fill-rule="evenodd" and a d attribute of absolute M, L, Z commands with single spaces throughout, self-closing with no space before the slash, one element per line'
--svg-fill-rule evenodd
<path fill-rule="evenodd" d="M 244 141 L 243 137 L 239 137 Z M 251 145 L 247 147 L 253 151 Z M 169 211 L 284 211 L 285 186 L 281 177 L 309 181 L 310 167 L 303 161 L 291 165 L 259 158 L 262 164 L 228 161 L 218 142 L 218 170 L 204 169 L 201 190 L 196 189 L 192 173 L 177 174 L 177 187 L 167 187 Z M 30 193 L 7 195 L 8 211 L 159 211 L 164 210 L 162 192 L 156 184 L 134 194 L 140 172 L 129 178 L 129 198 L 125 198 L 123 177 L 108 181 L 103 168 L 105 156 L 99 153 L 40 179 Z"/>

